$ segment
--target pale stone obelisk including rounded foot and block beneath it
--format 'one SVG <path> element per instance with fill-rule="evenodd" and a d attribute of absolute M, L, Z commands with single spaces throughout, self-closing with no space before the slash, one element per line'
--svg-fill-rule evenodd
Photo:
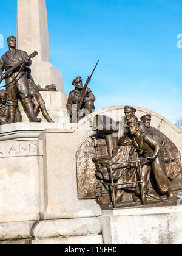
<path fill-rule="evenodd" d="M 55 84 L 58 92 L 41 92 L 47 110 L 57 123 L 69 122 L 64 85 L 61 72 L 50 63 L 49 33 L 47 24 L 47 8 L 45 0 L 18 0 L 17 1 L 17 40 L 18 49 L 31 54 L 38 51 L 31 66 L 32 77 L 35 83 L 42 88 L 45 85 Z M 23 121 L 28 121 L 21 103 L 19 103 Z M 44 118 L 41 116 L 43 121 Z"/>

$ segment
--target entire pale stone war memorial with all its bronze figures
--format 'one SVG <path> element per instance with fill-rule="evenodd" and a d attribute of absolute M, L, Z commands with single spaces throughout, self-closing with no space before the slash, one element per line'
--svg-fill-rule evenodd
<path fill-rule="evenodd" d="M 18 0 L 7 47 L 0 244 L 182 243 L 182 130 L 142 104 L 95 110 L 99 60 L 66 95 L 45 0 Z"/>

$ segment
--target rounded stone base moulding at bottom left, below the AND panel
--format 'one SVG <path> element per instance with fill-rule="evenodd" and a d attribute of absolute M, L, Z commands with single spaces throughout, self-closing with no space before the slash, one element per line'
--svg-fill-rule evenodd
<path fill-rule="evenodd" d="M 98 218 L 0 223 L 0 244 L 103 243 Z"/>

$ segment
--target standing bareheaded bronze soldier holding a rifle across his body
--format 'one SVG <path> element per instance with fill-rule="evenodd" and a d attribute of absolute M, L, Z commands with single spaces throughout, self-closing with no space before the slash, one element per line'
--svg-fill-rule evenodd
<path fill-rule="evenodd" d="M 24 68 L 15 69 L 8 77 L 2 73 L 4 69 L 7 71 L 23 60 L 25 62 L 24 66 L 31 66 L 32 64 L 27 52 L 16 49 L 16 38 L 14 36 L 7 38 L 7 44 L 9 51 L 1 57 L 0 76 L 2 79 L 5 78 L 10 118 L 8 123 L 15 122 L 15 112 L 18 106 L 17 93 L 22 100 L 25 110 L 27 110 L 29 114 L 30 122 L 41 122 L 41 118 L 36 118 L 35 114 L 33 113 L 32 96 L 29 92 L 29 83 Z"/>

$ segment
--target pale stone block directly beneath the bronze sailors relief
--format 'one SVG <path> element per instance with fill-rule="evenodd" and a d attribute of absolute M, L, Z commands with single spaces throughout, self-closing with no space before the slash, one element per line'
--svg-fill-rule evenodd
<path fill-rule="evenodd" d="M 99 219 L 106 244 L 172 244 L 182 229 L 182 206 L 109 210 Z"/>

